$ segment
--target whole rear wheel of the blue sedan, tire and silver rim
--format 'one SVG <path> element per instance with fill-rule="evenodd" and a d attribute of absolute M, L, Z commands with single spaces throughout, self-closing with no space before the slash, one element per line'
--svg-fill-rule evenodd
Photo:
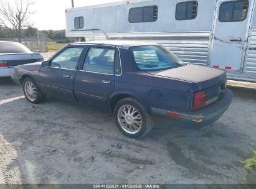
<path fill-rule="evenodd" d="M 148 134 L 154 125 L 148 109 L 135 98 L 121 99 L 115 106 L 113 116 L 118 129 L 127 137 L 139 139 Z"/>

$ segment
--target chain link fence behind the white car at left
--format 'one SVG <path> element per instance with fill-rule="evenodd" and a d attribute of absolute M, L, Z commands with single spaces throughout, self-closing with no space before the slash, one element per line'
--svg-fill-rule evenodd
<path fill-rule="evenodd" d="M 0 40 L 21 42 L 32 52 L 48 52 L 46 37 L 0 38 Z"/>

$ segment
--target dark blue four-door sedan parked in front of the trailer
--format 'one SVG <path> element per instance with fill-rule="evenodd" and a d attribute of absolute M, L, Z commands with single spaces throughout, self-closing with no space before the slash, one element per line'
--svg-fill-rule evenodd
<path fill-rule="evenodd" d="M 148 134 L 154 118 L 199 128 L 229 108 L 225 71 L 184 63 L 158 44 L 134 41 L 69 44 L 41 63 L 15 67 L 27 100 L 47 96 L 107 108 L 125 136 Z"/>

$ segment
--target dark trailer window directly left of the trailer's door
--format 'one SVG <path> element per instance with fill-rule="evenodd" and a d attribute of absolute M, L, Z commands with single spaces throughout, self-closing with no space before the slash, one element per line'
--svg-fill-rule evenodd
<path fill-rule="evenodd" d="M 179 2 L 176 5 L 175 19 L 177 21 L 195 19 L 197 16 L 197 1 Z"/>

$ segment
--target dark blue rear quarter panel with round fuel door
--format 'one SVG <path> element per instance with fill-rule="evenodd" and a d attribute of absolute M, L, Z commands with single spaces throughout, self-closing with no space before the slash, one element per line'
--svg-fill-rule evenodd
<path fill-rule="evenodd" d="M 180 80 L 151 76 L 143 72 L 128 72 L 116 76 L 116 94 L 129 94 L 149 108 L 186 111 L 191 109 L 196 85 Z"/>

